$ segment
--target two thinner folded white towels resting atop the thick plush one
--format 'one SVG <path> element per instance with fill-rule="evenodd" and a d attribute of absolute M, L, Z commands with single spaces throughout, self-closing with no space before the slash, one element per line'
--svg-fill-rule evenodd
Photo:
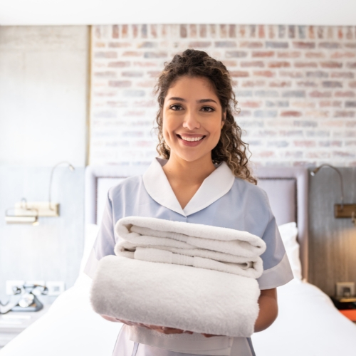
<path fill-rule="evenodd" d="M 263 273 L 258 255 L 266 244 L 246 231 L 139 216 L 120 219 L 115 229 L 123 240 L 115 246 L 117 256 L 251 278 Z"/>

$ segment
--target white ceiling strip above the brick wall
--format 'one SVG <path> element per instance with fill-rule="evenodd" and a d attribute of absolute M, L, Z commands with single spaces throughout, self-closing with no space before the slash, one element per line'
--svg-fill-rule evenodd
<path fill-rule="evenodd" d="M 0 25 L 356 25 L 356 0 L 0 0 Z"/>

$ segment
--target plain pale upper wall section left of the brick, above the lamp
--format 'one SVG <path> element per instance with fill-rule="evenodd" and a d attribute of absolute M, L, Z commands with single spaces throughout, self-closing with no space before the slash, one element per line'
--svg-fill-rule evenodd
<path fill-rule="evenodd" d="M 0 27 L 0 164 L 85 165 L 88 28 Z"/>

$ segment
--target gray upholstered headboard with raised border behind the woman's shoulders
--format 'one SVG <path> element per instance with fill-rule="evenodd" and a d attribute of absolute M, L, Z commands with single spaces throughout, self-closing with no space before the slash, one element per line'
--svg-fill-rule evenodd
<path fill-rule="evenodd" d="M 85 170 L 85 222 L 100 224 L 108 189 L 126 177 L 143 174 L 147 166 L 88 166 Z M 308 279 L 308 172 L 304 168 L 260 167 L 258 186 L 271 203 L 277 224 L 298 226 L 303 278 Z"/>

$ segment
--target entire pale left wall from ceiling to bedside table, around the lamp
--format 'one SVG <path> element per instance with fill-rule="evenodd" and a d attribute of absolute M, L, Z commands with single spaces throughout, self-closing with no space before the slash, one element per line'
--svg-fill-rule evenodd
<path fill-rule="evenodd" d="M 1 302 L 6 280 L 64 281 L 68 288 L 78 275 L 88 53 L 87 26 L 0 27 Z M 51 167 L 63 160 L 75 171 L 58 167 L 53 176 L 61 216 L 39 218 L 39 226 L 5 224 L 5 210 L 21 198 L 48 200 Z"/>

